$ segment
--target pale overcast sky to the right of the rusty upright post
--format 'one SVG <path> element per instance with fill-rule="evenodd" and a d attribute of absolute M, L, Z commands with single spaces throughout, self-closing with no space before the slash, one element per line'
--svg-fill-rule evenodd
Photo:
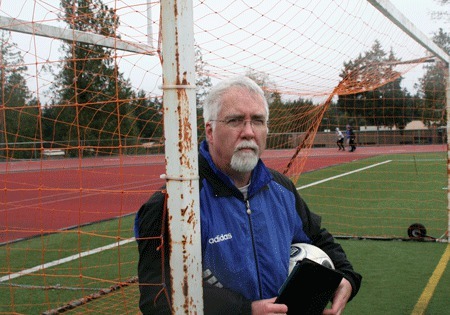
<path fill-rule="evenodd" d="M 340 80 L 343 63 L 367 52 L 375 40 L 381 41 L 385 52 L 393 49 L 402 60 L 427 55 L 423 47 L 411 45 L 411 38 L 401 38 L 392 23 L 366 1 L 279 1 L 276 6 L 272 1 L 264 5 L 252 0 L 245 4 L 237 1 L 239 5 L 233 6 L 226 1 L 211 2 L 195 7 L 199 10 L 194 14 L 197 26 L 204 28 L 203 33 L 196 33 L 201 35 L 197 40 L 205 51 L 204 59 L 212 60 L 216 67 L 213 76 L 221 77 L 228 69 L 234 73 L 246 67 L 258 69 L 293 97 L 327 97 Z M 425 36 L 430 37 L 442 25 L 442 21 L 431 19 L 434 8 L 442 9 L 433 0 L 391 3 Z M 236 39 L 239 37 L 245 39 Z M 419 71 L 421 65 L 417 68 Z"/>

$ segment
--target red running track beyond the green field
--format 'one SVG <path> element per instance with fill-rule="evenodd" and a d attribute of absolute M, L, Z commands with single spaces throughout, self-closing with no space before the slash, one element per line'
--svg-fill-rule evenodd
<path fill-rule="evenodd" d="M 378 154 L 446 150 L 446 145 L 362 147 L 352 153 L 312 149 L 303 172 Z M 270 167 L 286 165 L 292 154 L 266 151 L 263 160 Z M 164 183 L 163 173 L 161 155 L 0 164 L 0 244 L 135 213 Z"/>

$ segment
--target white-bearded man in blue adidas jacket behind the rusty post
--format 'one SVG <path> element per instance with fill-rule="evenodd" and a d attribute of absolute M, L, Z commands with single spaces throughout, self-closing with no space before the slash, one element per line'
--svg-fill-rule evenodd
<path fill-rule="evenodd" d="M 200 145 L 199 175 L 204 313 L 285 314 L 287 306 L 274 302 L 288 276 L 290 245 L 303 242 L 322 248 L 344 274 L 332 309 L 324 311 L 341 314 L 358 292 L 361 276 L 289 178 L 260 160 L 269 118 L 261 88 L 246 77 L 222 81 L 205 101 L 203 117 L 206 141 Z M 164 198 L 162 192 L 154 194 L 136 216 L 144 314 L 170 312 Z M 160 235 L 164 246 L 151 238 Z"/>

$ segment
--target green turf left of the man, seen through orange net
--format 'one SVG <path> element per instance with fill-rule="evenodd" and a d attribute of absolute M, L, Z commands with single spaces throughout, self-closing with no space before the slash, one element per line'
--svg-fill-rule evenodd
<path fill-rule="evenodd" d="M 133 217 L 45 235 L 0 249 L 0 270 L 14 273 L 132 237 Z M 118 229 L 119 226 L 125 229 Z M 0 286 L 0 314 L 37 314 L 126 282 L 137 273 L 135 242 L 85 256 Z M 8 288 L 8 284 L 13 284 Z"/>

